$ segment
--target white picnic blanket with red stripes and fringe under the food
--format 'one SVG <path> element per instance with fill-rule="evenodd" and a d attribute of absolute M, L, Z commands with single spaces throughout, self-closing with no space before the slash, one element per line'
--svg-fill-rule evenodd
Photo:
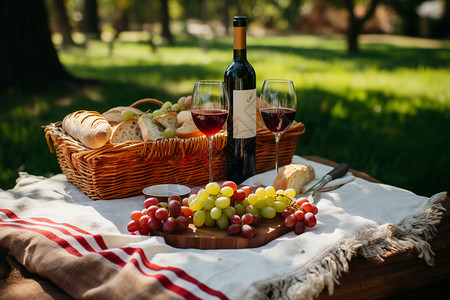
<path fill-rule="evenodd" d="M 316 180 L 332 169 L 299 156 L 293 162 L 312 165 Z M 274 177 L 269 171 L 245 183 L 271 185 Z M 325 188 L 333 186 L 340 187 L 317 195 L 318 223 L 301 235 L 291 232 L 259 248 L 199 250 L 173 248 L 162 237 L 130 235 L 129 213 L 143 208 L 143 196 L 93 201 L 62 174 L 48 179 L 23 175 L 15 188 L 0 190 L 0 243 L 13 248 L 8 237 L 18 236 L 19 230 L 29 232 L 32 236 L 20 238 L 33 241 L 33 249 L 41 242 L 42 247 L 53 247 L 61 265 L 74 270 L 81 258 L 101 257 L 98 269 L 105 265 L 114 276 L 91 278 L 98 281 L 91 287 L 80 278 L 87 271 L 96 274 L 95 267 L 61 275 L 54 263 L 53 269 L 45 265 L 45 252 L 38 262 L 33 262 L 32 251 L 16 255 L 27 269 L 50 278 L 75 298 L 112 299 L 125 292 L 128 299 L 138 298 L 144 285 L 148 289 L 153 284 L 154 295 L 164 298 L 312 299 L 324 288 L 332 293 L 357 252 L 381 259 L 387 250 L 415 249 L 432 265 L 427 241 L 440 221 L 445 192 L 427 198 L 351 174 Z M 36 242 L 35 235 L 45 238 Z M 124 282 L 121 272 L 130 272 L 132 282 Z"/>

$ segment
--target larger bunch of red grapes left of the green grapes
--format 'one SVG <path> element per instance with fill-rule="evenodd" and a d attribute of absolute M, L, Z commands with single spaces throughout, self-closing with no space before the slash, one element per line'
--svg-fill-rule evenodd
<path fill-rule="evenodd" d="M 189 227 L 192 210 L 182 204 L 179 195 L 171 195 L 168 202 L 159 202 L 154 197 L 147 198 L 144 207 L 142 211 L 130 213 L 131 221 L 127 225 L 129 232 L 150 235 L 152 230 L 173 233 Z"/>

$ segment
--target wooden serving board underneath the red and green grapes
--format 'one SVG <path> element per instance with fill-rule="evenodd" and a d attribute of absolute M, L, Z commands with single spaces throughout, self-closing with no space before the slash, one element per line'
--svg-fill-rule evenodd
<path fill-rule="evenodd" d="M 176 248 L 197 249 L 242 249 L 264 246 L 268 242 L 291 231 L 284 225 L 284 218 L 276 216 L 271 220 L 260 219 L 256 226 L 256 235 L 247 239 L 242 236 L 230 236 L 226 230 L 217 227 L 202 226 L 196 228 L 193 224 L 189 229 L 181 233 L 167 234 L 162 231 L 152 232 L 152 235 L 164 237 L 166 243 Z"/>

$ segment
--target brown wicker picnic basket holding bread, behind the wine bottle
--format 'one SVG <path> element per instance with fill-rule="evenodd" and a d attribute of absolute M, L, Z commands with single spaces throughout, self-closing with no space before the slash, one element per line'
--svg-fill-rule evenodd
<path fill-rule="evenodd" d="M 131 106 L 162 102 L 144 99 Z M 154 184 L 177 183 L 203 185 L 209 178 L 209 141 L 206 136 L 189 139 L 160 139 L 153 142 L 107 143 L 90 149 L 64 132 L 61 121 L 45 127 L 50 151 L 56 152 L 58 163 L 67 180 L 93 200 L 118 199 L 139 195 Z M 280 140 L 279 164 L 292 160 L 297 138 L 304 132 L 302 123 L 294 124 Z M 213 177 L 226 179 L 227 133 L 219 132 L 213 139 Z M 256 172 L 275 166 L 275 138 L 267 129 L 256 136 Z"/>

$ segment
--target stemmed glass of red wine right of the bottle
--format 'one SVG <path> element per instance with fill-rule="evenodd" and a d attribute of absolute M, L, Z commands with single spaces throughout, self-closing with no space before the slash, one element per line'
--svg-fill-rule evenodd
<path fill-rule="evenodd" d="M 297 96 L 292 80 L 266 79 L 264 81 L 259 110 L 267 129 L 275 135 L 275 170 L 277 174 L 280 137 L 294 121 L 296 108 Z"/>

